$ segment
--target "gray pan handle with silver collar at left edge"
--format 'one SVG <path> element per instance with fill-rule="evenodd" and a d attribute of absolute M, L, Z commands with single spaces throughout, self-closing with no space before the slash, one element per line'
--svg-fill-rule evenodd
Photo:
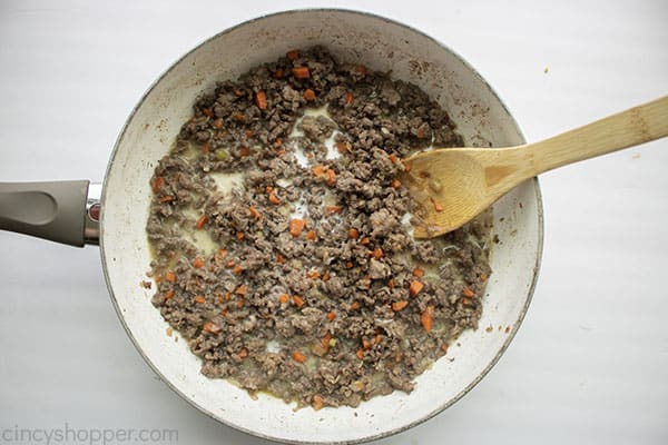
<path fill-rule="evenodd" d="M 97 245 L 100 194 L 101 186 L 88 180 L 0 182 L 0 230 Z"/>

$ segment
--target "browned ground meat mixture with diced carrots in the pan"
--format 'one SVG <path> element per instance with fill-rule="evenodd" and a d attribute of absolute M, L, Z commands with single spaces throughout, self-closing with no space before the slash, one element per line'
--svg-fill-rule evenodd
<path fill-rule="evenodd" d="M 411 236 L 402 159 L 432 145 L 462 139 L 426 93 L 320 47 L 200 97 L 155 169 L 147 231 L 153 304 L 202 373 L 357 406 L 411 392 L 477 328 L 489 224 Z"/>

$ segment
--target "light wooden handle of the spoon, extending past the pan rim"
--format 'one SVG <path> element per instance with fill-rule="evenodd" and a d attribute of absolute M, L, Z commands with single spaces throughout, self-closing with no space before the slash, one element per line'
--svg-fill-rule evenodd
<path fill-rule="evenodd" d="M 668 96 L 524 146 L 533 160 L 534 171 L 529 177 L 665 136 L 668 136 Z"/>

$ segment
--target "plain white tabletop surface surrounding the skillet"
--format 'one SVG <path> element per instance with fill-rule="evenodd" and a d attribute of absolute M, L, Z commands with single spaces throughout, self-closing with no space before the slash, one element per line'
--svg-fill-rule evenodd
<path fill-rule="evenodd" d="M 668 93 L 661 0 L 3 0 L 0 180 L 100 181 L 126 117 L 174 60 L 233 24 L 308 6 L 435 37 L 492 85 L 530 141 Z M 668 443 L 667 169 L 665 139 L 541 177 L 542 269 L 515 340 L 455 406 L 377 444 Z M 158 380 L 116 317 L 97 248 L 0 233 L 0 428 L 66 422 L 265 443 Z"/>

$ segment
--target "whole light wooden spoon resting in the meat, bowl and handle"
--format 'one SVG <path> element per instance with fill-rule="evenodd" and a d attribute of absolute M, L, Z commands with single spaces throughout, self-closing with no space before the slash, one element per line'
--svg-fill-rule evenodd
<path fill-rule="evenodd" d="M 668 96 L 540 142 L 441 148 L 407 159 L 418 204 L 414 236 L 431 238 L 473 219 L 520 182 L 567 164 L 668 136 Z"/>

